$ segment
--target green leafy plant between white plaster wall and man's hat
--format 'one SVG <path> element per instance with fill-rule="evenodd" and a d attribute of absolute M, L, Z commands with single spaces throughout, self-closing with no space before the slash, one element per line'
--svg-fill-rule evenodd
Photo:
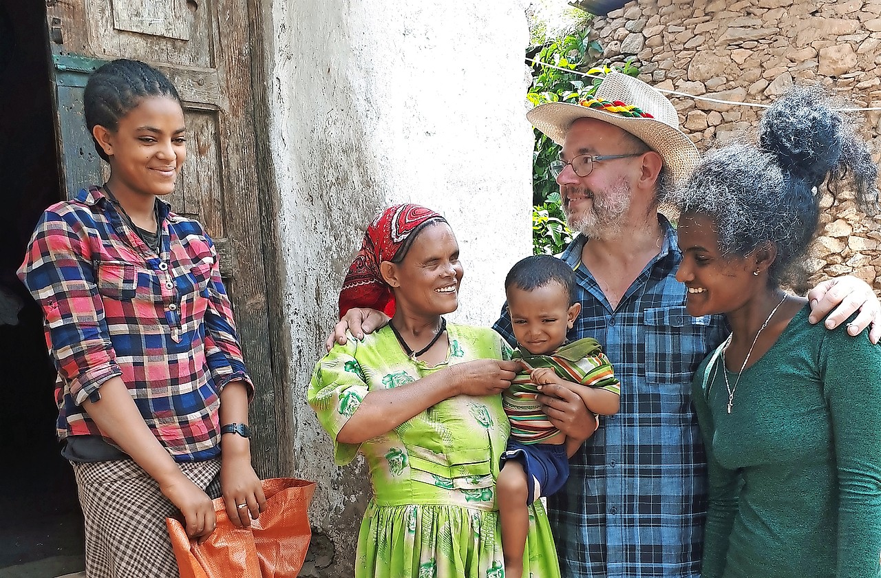
<path fill-rule="evenodd" d="M 602 80 L 599 75 L 605 75 L 611 70 L 633 77 L 639 75 L 639 68 L 633 64 L 632 59 L 628 59 L 619 69 L 605 65 L 589 68 L 587 74 L 597 78 L 577 74 L 576 70 L 588 68 L 589 62 L 596 61 L 603 53 L 598 42 L 589 41 L 588 34 L 589 28 L 584 26 L 541 49 L 536 60 L 558 68 L 535 65 L 535 75 L 526 95 L 533 106 L 537 107 L 545 102 L 574 103 L 589 99 Z M 535 137 L 536 145 L 532 157 L 532 247 L 536 254 L 556 255 L 573 238 L 560 205 L 559 186 L 551 173 L 551 163 L 559 158 L 560 147 L 538 130 L 535 130 Z"/>

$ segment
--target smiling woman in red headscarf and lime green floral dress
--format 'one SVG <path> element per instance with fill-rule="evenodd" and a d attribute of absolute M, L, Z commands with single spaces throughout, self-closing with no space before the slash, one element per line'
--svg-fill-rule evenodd
<path fill-rule="evenodd" d="M 335 346 L 315 366 L 308 401 L 337 464 L 366 457 L 374 496 L 356 578 L 502 578 L 495 499 L 509 431 L 500 391 L 519 368 L 495 331 L 447 323 L 462 263 L 441 215 L 390 207 L 368 227 L 340 313 L 371 307 L 388 326 Z M 559 576 L 547 515 L 530 507 L 524 575 Z"/>

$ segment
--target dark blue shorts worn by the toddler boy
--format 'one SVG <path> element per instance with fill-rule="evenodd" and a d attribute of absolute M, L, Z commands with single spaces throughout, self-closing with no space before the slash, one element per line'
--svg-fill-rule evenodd
<path fill-rule="evenodd" d="M 529 495 L 527 504 L 537 498 L 550 496 L 559 491 L 569 478 L 569 458 L 566 456 L 566 444 L 531 443 L 525 444 L 515 440 L 507 441 L 507 449 L 501 455 L 501 464 L 507 460 L 522 463 L 526 472 Z"/>

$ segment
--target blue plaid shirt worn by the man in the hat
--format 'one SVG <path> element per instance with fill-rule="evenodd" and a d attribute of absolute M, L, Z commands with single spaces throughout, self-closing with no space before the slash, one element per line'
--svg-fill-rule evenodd
<path fill-rule="evenodd" d="M 575 271 L 581 315 L 569 339 L 594 337 L 621 381 L 618 414 L 570 460 L 548 499 L 564 576 L 700 576 L 707 460 L 692 409 L 692 374 L 728 335 L 721 315 L 692 317 L 675 275 L 676 231 L 659 215 L 663 247 L 612 310 L 581 265 L 579 235 L 560 258 Z M 515 343 L 507 310 L 496 322 Z"/>

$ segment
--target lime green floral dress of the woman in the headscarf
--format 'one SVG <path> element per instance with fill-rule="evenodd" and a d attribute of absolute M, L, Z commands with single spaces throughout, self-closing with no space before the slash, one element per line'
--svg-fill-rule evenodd
<path fill-rule="evenodd" d="M 509 431 L 500 396 L 455 396 L 360 445 L 337 434 L 374 389 L 414 382 L 472 359 L 502 359 L 495 331 L 447 326 L 449 352 L 437 367 L 410 359 L 388 327 L 337 345 L 315 366 L 309 404 L 334 441 L 337 464 L 360 451 L 374 496 L 358 538 L 356 578 L 502 578 L 495 479 Z M 529 507 L 524 576 L 559 577 L 547 515 Z"/>

